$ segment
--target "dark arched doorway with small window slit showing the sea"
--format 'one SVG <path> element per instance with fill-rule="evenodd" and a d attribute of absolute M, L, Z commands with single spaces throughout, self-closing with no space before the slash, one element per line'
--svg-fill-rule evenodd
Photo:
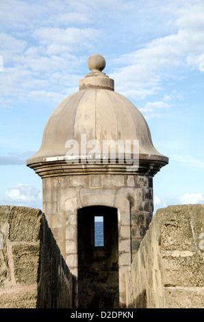
<path fill-rule="evenodd" d="M 77 222 L 79 308 L 118 308 L 117 209 L 84 207 L 78 210 Z"/>

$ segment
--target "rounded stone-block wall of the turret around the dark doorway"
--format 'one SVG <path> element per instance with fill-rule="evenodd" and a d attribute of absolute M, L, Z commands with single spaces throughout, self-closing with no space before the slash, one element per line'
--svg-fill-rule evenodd
<path fill-rule="evenodd" d="M 119 172 L 120 173 L 120 172 Z M 41 173 L 42 175 L 42 173 Z M 153 213 L 153 178 L 139 174 L 83 174 L 42 178 L 42 211 L 71 273 L 78 275 L 77 213 L 88 206 L 118 210 L 119 297 L 123 274 L 138 251 Z M 114 234 L 114 232 L 110 232 Z M 75 306 L 78 290 L 75 284 Z"/>

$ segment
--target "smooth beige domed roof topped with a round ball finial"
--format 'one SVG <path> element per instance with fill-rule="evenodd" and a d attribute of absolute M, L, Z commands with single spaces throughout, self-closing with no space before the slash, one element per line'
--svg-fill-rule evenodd
<path fill-rule="evenodd" d="M 64 160 L 67 141 L 71 144 L 75 140 L 81 147 L 81 138 L 86 138 L 86 143 L 97 140 L 101 147 L 104 140 L 124 143 L 131 140 L 131 146 L 133 140 L 138 140 L 140 160 L 159 162 L 160 166 L 168 163 L 168 158 L 153 147 L 149 127 L 140 111 L 129 99 L 114 91 L 114 80 L 102 73 L 104 67 L 101 55 L 90 56 L 91 73 L 79 81 L 78 92 L 66 97 L 53 110 L 44 127 L 42 145 L 27 160 L 28 166 Z M 80 150 L 79 156 L 83 154 Z"/>

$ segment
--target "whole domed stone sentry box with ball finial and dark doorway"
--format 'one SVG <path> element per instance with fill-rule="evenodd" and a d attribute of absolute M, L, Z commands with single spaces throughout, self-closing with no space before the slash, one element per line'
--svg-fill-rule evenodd
<path fill-rule="evenodd" d="M 125 304 L 123 275 L 152 219 L 153 176 L 168 163 L 153 147 L 149 127 L 136 106 L 114 92 L 114 81 L 102 72 L 104 67 L 101 55 L 90 56 L 91 73 L 79 81 L 78 92 L 55 108 L 44 127 L 39 151 L 27 160 L 27 166 L 42 178 L 42 211 L 75 275 L 76 308 L 119 308 Z M 103 140 L 130 140 L 132 148 L 137 140 L 137 166 L 126 158 L 121 162 L 118 150 L 115 160 L 103 162 L 95 154 L 90 162 L 81 145 L 84 136 L 101 147 Z M 80 151 L 66 158 L 70 143 L 75 142 Z M 87 239 L 92 234 L 92 207 L 96 206 L 107 223 L 101 253 L 92 239 Z M 116 218 L 114 224 L 111 216 Z M 114 243 L 110 243 L 111 236 Z M 81 250 L 83 238 L 87 247 L 92 247 L 92 257 L 86 247 Z M 83 269 L 87 275 L 80 277 Z M 86 287 L 86 280 L 87 285 L 92 280 L 91 287 Z M 101 296 L 96 296 L 99 293 Z"/>

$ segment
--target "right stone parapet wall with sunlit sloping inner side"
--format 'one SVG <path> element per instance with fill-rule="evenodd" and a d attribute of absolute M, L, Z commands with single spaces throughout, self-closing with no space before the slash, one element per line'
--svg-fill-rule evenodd
<path fill-rule="evenodd" d="M 157 210 L 129 271 L 127 308 L 204 308 L 204 205 Z"/>

